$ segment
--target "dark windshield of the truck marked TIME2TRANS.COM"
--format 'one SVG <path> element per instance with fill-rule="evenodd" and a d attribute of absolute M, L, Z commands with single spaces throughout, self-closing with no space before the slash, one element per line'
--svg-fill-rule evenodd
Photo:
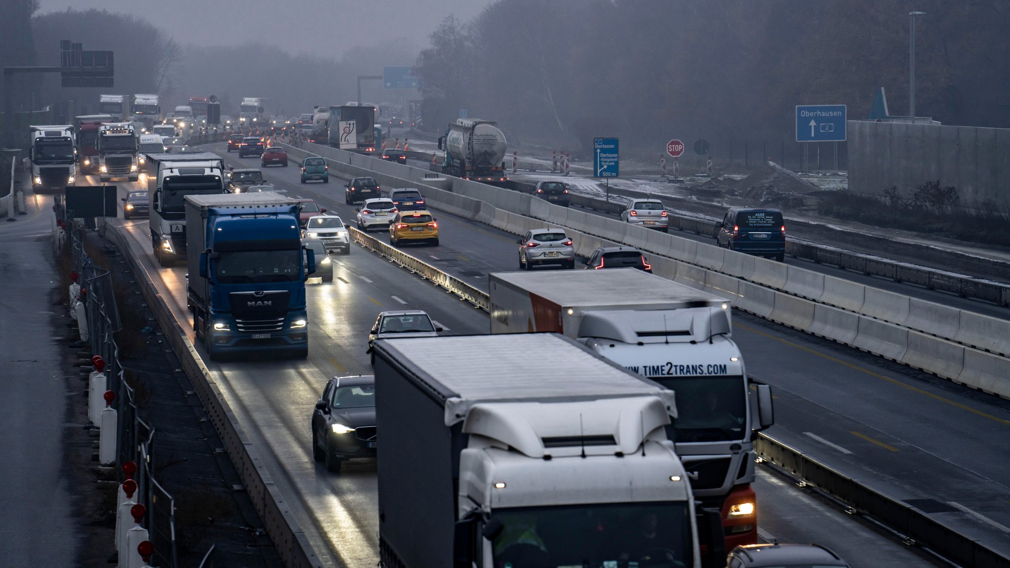
<path fill-rule="evenodd" d="M 649 377 L 677 393 L 677 442 L 724 442 L 749 436 L 743 377 Z"/>

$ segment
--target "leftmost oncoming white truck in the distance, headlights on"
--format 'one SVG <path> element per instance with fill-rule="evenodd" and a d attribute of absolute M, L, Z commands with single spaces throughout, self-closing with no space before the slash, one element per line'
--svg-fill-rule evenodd
<path fill-rule="evenodd" d="M 31 187 L 35 191 L 63 191 L 76 185 L 77 134 L 72 124 L 28 126 L 31 148 Z"/>

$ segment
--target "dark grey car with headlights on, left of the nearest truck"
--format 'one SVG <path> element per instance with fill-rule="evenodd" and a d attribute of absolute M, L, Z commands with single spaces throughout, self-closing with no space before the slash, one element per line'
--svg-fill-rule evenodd
<path fill-rule="evenodd" d="M 312 411 L 312 457 L 336 473 L 346 460 L 374 458 L 376 381 L 373 376 L 333 377 Z"/>

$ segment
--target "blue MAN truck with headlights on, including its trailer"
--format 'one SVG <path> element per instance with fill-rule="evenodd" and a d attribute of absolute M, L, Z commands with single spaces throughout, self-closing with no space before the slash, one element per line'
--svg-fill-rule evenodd
<path fill-rule="evenodd" d="M 273 192 L 187 195 L 185 201 L 187 303 L 207 355 L 307 357 L 305 280 L 315 272 L 315 258 L 302 247 L 298 203 Z"/>

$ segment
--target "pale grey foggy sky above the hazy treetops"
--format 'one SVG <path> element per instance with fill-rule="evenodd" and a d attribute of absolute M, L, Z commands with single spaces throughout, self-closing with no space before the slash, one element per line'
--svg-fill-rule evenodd
<path fill-rule="evenodd" d="M 416 46 L 452 13 L 469 20 L 491 0 L 40 0 L 38 13 L 104 9 L 146 18 L 182 43 L 240 44 L 261 38 L 293 54 L 339 58 L 356 46 Z M 413 65 L 389 62 L 387 65 Z"/>

